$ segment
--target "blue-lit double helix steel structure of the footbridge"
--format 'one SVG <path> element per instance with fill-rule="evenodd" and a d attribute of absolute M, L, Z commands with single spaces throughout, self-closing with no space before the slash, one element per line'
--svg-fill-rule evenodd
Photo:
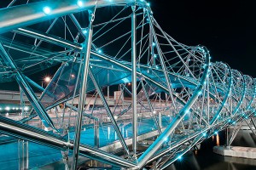
<path fill-rule="evenodd" d="M 204 46 L 174 40 L 145 0 L 16 3 L 0 10 L 0 82 L 15 80 L 32 111 L 19 121 L 0 116 L 0 132 L 10 140 L 61 150 L 73 169 L 79 156 L 165 169 L 214 133 L 255 116 L 255 79 L 211 62 Z M 42 88 L 31 75 L 46 68 L 58 69 Z M 32 87 L 43 91 L 40 98 Z M 107 88 L 119 88 L 117 99 L 107 98 Z M 49 111 L 59 105 L 64 109 L 53 119 Z M 37 118 L 44 128 L 32 126 Z"/>

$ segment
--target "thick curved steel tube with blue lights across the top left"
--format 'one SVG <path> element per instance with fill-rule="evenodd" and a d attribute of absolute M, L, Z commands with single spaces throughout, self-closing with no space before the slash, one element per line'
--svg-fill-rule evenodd
<path fill-rule="evenodd" d="M 96 3 L 97 8 L 102 8 L 111 5 L 129 4 L 131 0 L 88 0 L 83 1 L 83 3 L 82 6 L 79 6 L 77 0 L 51 0 L 3 8 L 0 10 L 0 34 L 67 14 L 79 13 L 94 8 Z M 150 10 L 146 1 L 138 1 L 137 4 Z M 44 7 L 51 9 L 49 14 L 44 13 Z"/>

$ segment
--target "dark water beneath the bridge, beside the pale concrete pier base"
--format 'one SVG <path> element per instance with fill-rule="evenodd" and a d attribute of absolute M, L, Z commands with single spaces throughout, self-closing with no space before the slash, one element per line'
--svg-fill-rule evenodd
<path fill-rule="evenodd" d="M 176 161 L 166 170 L 256 170 L 255 159 L 219 156 L 212 152 L 214 145 L 224 145 L 224 142 L 224 132 L 220 132 L 204 141 L 201 150 L 190 151 L 182 161 Z"/>

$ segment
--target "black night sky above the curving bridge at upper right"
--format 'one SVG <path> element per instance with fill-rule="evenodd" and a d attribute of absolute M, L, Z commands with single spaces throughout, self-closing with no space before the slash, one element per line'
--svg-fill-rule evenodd
<path fill-rule="evenodd" d="M 150 0 L 154 18 L 178 42 L 204 45 L 212 61 L 224 61 L 256 77 L 256 1 Z"/>

